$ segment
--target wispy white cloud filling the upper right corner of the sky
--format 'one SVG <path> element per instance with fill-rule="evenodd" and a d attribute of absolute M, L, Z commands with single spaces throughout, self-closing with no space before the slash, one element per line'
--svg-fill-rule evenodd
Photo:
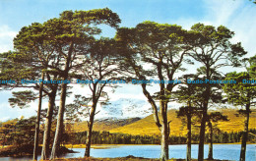
<path fill-rule="evenodd" d="M 225 26 L 234 31 L 232 42 L 241 42 L 248 55 L 255 55 L 256 8 L 245 5 L 243 0 L 205 0 L 207 15 L 205 21 L 215 27 Z M 207 24 L 208 24 L 207 23 Z"/>

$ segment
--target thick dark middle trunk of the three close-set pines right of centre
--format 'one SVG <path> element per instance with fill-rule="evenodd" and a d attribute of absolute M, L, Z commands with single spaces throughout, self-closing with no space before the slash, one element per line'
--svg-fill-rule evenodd
<path fill-rule="evenodd" d="M 203 118 L 202 118 L 201 127 L 200 127 L 200 135 L 199 135 L 198 161 L 204 160 L 206 118 L 207 118 L 207 110 L 204 109 Z"/>

